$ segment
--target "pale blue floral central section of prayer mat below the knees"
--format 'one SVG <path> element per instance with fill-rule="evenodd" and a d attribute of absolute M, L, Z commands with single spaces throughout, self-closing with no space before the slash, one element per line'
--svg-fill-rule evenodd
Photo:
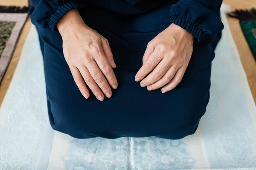
<path fill-rule="evenodd" d="M 197 162 L 183 140 L 156 137 L 73 139 L 62 161 L 67 170 L 192 169 Z"/>

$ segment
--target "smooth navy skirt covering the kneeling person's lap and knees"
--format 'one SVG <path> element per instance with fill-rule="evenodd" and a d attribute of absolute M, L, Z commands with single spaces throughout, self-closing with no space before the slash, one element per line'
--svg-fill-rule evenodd
<path fill-rule="evenodd" d="M 161 89 L 148 91 L 134 81 L 148 42 L 169 26 L 165 18 L 170 6 L 172 2 L 163 3 L 154 11 L 132 19 L 93 3 L 79 10 L 84 22 L 108 39 L 117 65 L 114 72 L 119 88 L 103 102 L 92 93 L 89 99 L 81 95 L 64 59 L 61 35 L 37 27 L 53 129 L 81 139 L 98 136 L 181 139 L 195 133 L 209 101 L 211 62 L 215 56 L 211 44 L 194 46 L 183 80 L 166 94 Z"/>

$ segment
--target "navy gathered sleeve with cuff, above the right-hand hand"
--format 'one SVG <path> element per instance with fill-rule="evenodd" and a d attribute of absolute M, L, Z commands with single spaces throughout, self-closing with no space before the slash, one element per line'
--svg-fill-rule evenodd
<path fill-rule="evenodd" d="M 167 23 L 188 31 L 197 42 L 209 43 L 224 28 L 220 18 L 222 0 L 179 0 L 171 6 Z"/>

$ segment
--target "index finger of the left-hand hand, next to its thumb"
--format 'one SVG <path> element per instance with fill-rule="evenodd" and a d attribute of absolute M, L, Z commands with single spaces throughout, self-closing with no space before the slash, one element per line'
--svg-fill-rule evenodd
<path fill-rule="evenodd" d="M 111 85 L 113 89 L 116 89 L 117 88 L 116 76 L 114 74 L 113 69 L 111 68 L 111 65 L 109 65 L 109 62 L 106 59 L 106 57 L 102 55 L 102 53 L 100 52 L 99 56 L 95 57 L 95 61 L 98 64 L 101 72 L 104 74 L 104 76 L 108 80 L 109 85 Z"/>

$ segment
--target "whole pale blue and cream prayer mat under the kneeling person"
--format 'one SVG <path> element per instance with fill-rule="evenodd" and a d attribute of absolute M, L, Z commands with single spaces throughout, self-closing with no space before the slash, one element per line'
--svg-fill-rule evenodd
<path fill-rule="evenodd" d="M 0 169 L 254 170 L 256 106 L 224 13 L 222 20 L 207 112 L 196 133 L 180 140 L 74 139 L 52 130 L 43 58 L 32 26 L 0 108 Z"/>

